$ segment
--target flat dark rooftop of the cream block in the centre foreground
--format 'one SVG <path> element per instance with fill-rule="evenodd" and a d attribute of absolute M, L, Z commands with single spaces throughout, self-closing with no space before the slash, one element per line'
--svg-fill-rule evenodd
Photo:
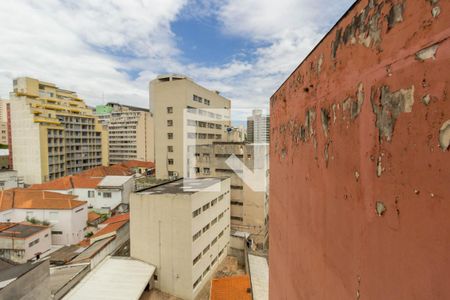
<path fill-rule="evenodd" d="M 139 191 L 139 194 L 194 194 L 208 191 L 208 188 L 220 183 L 222 177 L 181 178 Z"/>

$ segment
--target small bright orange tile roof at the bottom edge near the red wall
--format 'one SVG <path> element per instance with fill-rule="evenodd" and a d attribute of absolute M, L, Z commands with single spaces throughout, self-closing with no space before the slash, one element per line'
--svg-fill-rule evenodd
<path fill-rule="evenodd" d="M 211 300 L 251 300 L 248 275 L 213 279 L 211 281 Z"/>

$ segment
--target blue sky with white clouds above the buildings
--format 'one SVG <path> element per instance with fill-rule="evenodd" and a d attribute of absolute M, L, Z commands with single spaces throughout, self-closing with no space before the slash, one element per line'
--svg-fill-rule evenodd
<path fill-rule="evenodd" d="M 1 0 L 0 98 L 15 77 L 88 105 L 149 106 L 148 83 L 178 73 L 267 108 L 352 0 Z"/>

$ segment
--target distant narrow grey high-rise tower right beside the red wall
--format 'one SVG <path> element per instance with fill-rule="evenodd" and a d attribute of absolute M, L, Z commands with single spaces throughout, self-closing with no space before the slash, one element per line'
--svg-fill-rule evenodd
<path fill-rule="evenodd" d="M 247 118 L 247 141 L 250 143 L 268 143 L 270 140 L 270 117 L 261 109 L 254 109 Z"/>

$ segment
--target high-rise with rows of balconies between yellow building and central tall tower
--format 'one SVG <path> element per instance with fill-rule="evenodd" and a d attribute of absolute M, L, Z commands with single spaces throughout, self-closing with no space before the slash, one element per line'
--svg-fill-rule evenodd
<path fill-rule="evenodd" d="M 154 161 L 153 116 L 148 109 L 108 103 L 96 107 L 109 136 L 109 163 Z"/>

